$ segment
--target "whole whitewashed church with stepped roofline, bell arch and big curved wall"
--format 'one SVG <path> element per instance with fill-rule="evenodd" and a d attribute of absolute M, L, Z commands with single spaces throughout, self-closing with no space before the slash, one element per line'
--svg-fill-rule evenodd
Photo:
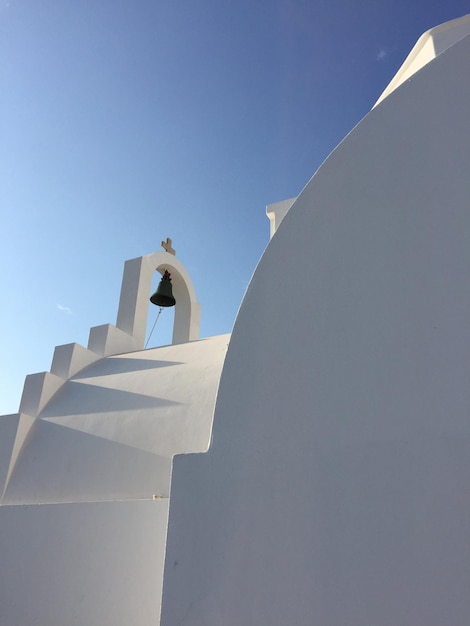
<path fill-rule="evenodd" d="M 469 626 L 470 16 L 297 198 L 233 333 L 127 261 L 0 417 L 1 626 Z M 144 349 L 152 276 L 173 343 Z M 289 284 L 289 315 L 278 294 Z"/>

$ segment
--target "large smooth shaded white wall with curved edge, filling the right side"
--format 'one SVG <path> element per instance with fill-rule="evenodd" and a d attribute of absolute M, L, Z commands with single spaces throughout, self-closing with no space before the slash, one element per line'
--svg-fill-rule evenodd
<path fill-rule="evenodd" d="M 175 459 L 164 626 L 468 626 L 469 67 L 391 93 L 271 240 Z"/>

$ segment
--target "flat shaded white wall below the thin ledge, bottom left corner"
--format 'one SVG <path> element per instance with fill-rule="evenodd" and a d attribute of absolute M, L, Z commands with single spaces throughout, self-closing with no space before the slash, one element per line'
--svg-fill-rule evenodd
<path fill-rule="evenodd" d="M 0 508 L 2 626 L 158 624 L 168 500 Z"/>

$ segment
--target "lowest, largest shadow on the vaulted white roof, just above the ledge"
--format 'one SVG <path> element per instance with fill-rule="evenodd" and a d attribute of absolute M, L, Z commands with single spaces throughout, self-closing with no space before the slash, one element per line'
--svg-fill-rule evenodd
<path fill-rule="evenodd" d="M 36 420 L 4 504 L 168 497 L 171 465 L 161 455 Z"/>

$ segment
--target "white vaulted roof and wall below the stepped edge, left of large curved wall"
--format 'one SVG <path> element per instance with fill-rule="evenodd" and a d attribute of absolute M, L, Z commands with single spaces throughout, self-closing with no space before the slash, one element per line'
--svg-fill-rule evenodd
<path fill-rule="evenodd" d="M 228 339 L 100 359 L 0 417 L 1 626 L 159 623 L 172 457 L 209 446 Z"/>

